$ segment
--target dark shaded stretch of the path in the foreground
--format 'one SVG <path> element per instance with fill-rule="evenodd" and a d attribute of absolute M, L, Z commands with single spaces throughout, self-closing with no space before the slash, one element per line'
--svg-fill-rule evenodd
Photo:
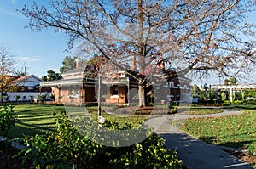
<path fill-rule="evenodd" d="M 177 155 L 189 169 L 249 169 L 249 164 L 240 161 L 216 145 L 207 144 L 183 132 L 160 134 L 166 139 L 166 148 L 177 150 Z"/>

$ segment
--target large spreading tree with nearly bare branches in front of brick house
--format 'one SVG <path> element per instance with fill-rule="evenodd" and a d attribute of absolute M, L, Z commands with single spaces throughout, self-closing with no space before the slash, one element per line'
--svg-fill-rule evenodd
<path fill-rule="evenodd" d="M 51 27 L 65 32 L 67 48 L 83 42 L 90 53 L 113 59 L 120 69 L 121 59 L 135 57 L 138 74 L 127 72 L 137 78 L 139 105 L 144 106 L 148 65 L 151 70 L 160 66 L 169 79 L 190 70 L 217 70 L 224 76 L 252 70 L 254 31 L 246 14 L 254 6 L 254 0 L 55 0 L 20 12 L 32 31 Z M 119 50 L 109 50 L 111 45 Z"/>

